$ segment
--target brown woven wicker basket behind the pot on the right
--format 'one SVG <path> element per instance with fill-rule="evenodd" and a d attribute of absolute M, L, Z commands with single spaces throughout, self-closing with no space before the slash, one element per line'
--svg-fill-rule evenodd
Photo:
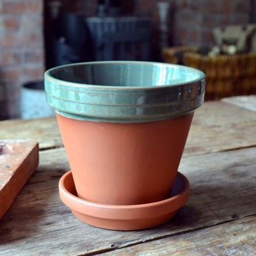
<path fill-rule="evenodd" d="M 169 51 L 170 53 L 170 51 Z M 164 51 L 168 63 L 173 57 Z M 256 54 L 234 56 L 202 56 L 196 52 L 184 52 L 183 64 L 195 67 L 207 75 L 206 100 L 236 95 L 256 94 Z"/>

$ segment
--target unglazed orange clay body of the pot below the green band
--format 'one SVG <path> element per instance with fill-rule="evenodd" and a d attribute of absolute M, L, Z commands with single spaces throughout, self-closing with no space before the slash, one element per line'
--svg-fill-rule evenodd
<path fill-rule="evenodd" d="M 167 199 L 192 114 L 146 123 L 104 123 L 57 115 L 78 196 L 134 205 Z"/>

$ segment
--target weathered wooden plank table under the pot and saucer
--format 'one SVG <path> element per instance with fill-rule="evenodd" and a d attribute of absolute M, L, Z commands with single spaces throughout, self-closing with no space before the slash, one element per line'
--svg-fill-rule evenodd
<path fill-rule="evenodd" d="M 60 202 L 69 169 L 55 119 L 0 122 L 0 138 L 36 139 L 40 164 L 0 221 L 0 255 L 256 255 L 256 96 L 205 102 L 180 165 L 191 196 L 165 225 L 108 231 Z"/>

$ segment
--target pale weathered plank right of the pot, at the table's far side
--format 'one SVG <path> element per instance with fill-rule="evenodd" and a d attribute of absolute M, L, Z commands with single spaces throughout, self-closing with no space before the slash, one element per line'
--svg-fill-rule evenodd
<path fill-rule="evenodd" d="M 256 113 L 223 102 L 205 102 L 196 110 L 184 155 L 256 146 Z"/>

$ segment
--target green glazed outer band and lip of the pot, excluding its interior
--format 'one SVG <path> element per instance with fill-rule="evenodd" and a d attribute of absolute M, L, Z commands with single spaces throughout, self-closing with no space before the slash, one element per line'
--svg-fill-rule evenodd
<path fill-rule="evenodd" d="M 195 74 L 196 79 L 164 85 L 112 86 L 92 85 L 83 81 L 78 83 L 54 77 L 56 72 L 72 70 L 78 66 L 88 68 L 107 65 L 109 68 L 111 64 L 180 68 L 184 72 Z M 158 62 L 85 62 L 47 70 L 44 85 L 47 102 L 57 114 L 64 117 L 93 122 L 140 123 L 181 117 L 194 112 L 204 102 L 205 74 L 196 68 Z"/>

